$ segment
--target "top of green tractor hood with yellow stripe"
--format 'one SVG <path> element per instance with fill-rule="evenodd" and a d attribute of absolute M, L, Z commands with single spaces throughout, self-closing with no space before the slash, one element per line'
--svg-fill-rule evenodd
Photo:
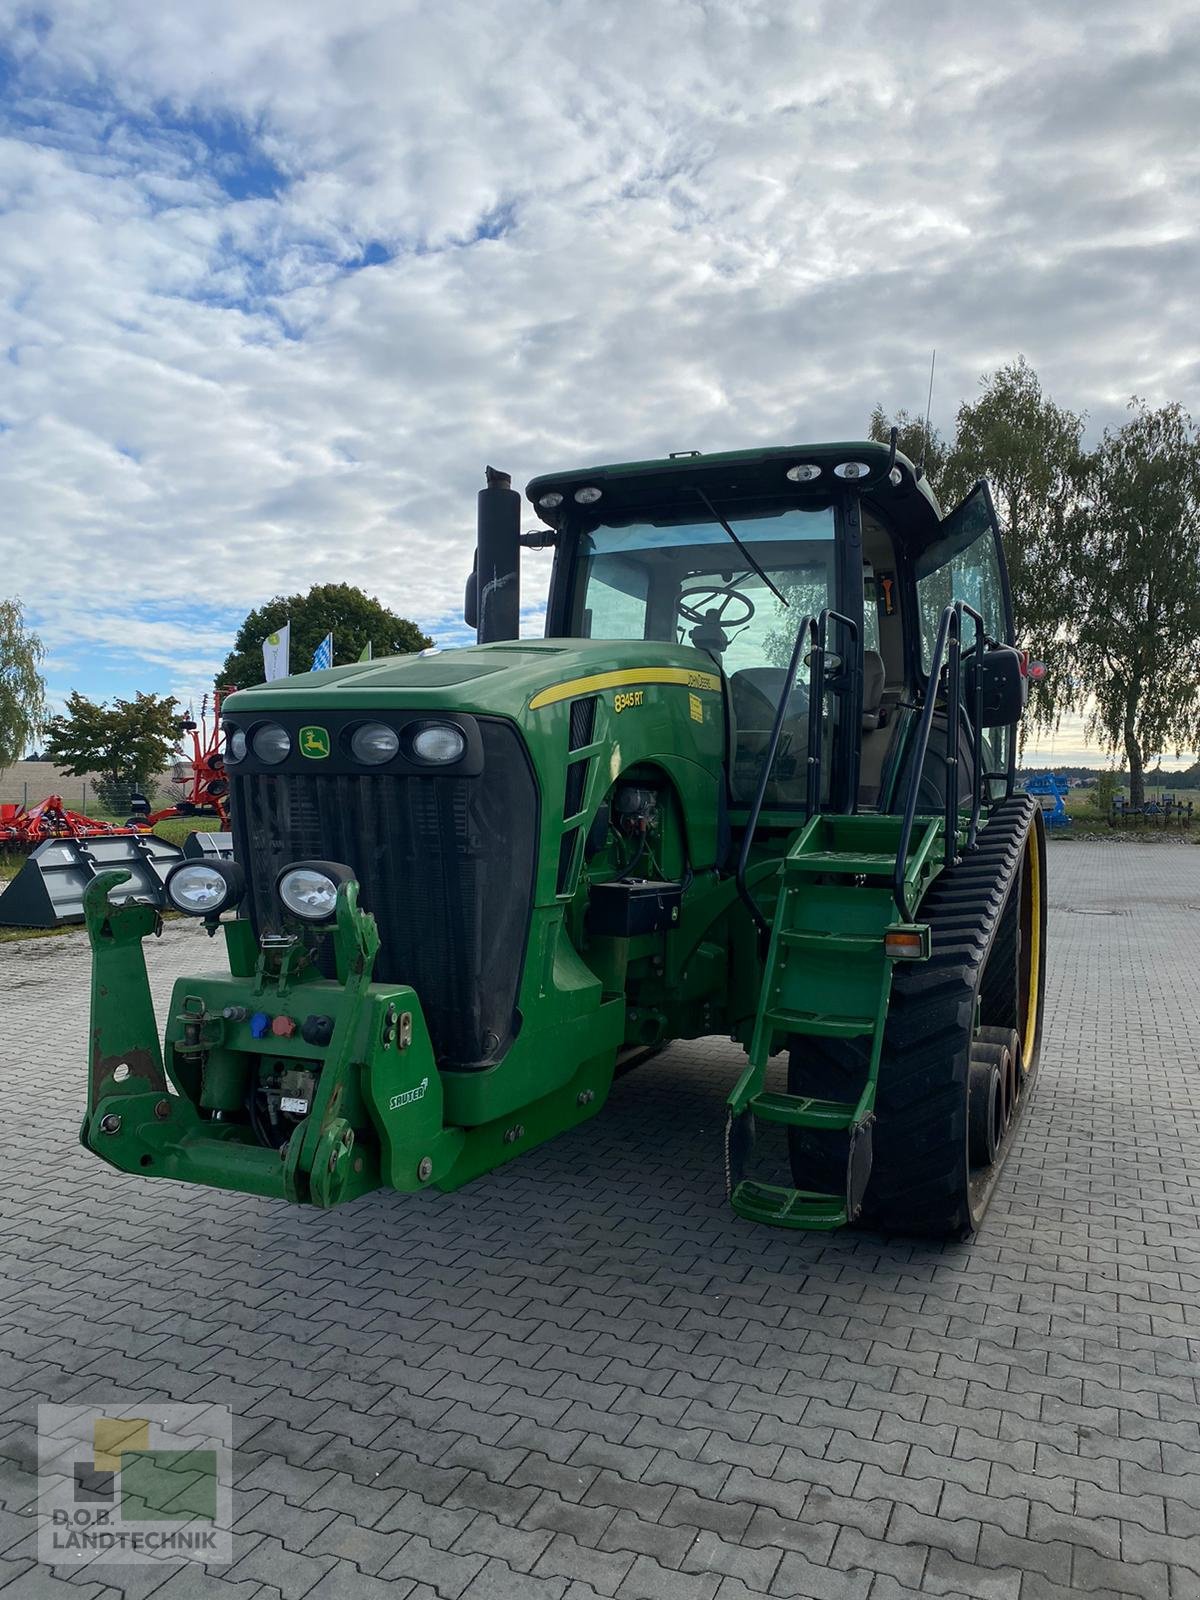
<path fill-rule="evenodd" d="M 584 694 L 685 686 L 720 693 L 704 651 L 653 640 L 549 638 L 470 645 L 384 661 L 301 672 L 232 694 L 230 717 L 248 712 L 462 710 L 523 718 L 525 712 Z"/>

